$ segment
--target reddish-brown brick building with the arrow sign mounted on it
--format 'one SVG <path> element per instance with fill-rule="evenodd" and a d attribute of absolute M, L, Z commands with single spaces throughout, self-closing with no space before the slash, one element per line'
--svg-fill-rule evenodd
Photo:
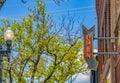
<path fill-rule="evenodd" d="M 120 38 L 120 0 L 96 0 L 98 37 Z M 120 39 L 99 39 L 98 52 L 120 52 Z M 120 54 L 98 55 L 99 83 L 120 83 Z"/>

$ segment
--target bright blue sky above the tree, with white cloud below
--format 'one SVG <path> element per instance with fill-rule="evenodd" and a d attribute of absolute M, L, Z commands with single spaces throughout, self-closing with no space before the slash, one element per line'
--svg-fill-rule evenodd
<path fill-rule="evenodd" d="M 60 5 L 55 4 L 53 0 L 46 0 L 46 2 L 46 11 L 52 15 L 55 21 L 59 21 L 69 12 L 70 15 L 79 16 L 81 22 L 84 19 L 83 24 L 88 29 L 93 25 L 97 27 L 95 0 L 65 0 Z M 35 5 L 35 0 L 27 0 L 26 4 L 21 3 L 21 0 L 6 0 L 0 11 L 0 19 L 21 20 L 22 16 L 27 16 L 30 13 L 28 6 L 33 7 L 33 5 Z M 97 48 L 97 45 L 95 45 L 95 48 Z M 89 83 L 88 80 L 88 76 L 80 74 L 74 83 Z"/>

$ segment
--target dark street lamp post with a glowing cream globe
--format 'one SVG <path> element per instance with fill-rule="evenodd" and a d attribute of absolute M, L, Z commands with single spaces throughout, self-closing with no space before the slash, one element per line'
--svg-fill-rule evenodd
<path fill-rule="evenodd" d="M 6 41 L 6 45 L 7 45 L 7 49 L 3 50 L 2 49 L 2 45 L 0 45 L 0 83 L 2 83 L 3 79 L 2 79 L 2 62 L 3 62 L 3 57 L 7 57 L 8 58 L 8 62 L 10 62 L 10 53 L 11 53 L 11 44 L 12 44 L 12 40 L 14 38 L 14 33 L 11 30 L 11 28 L 9 27 L 7 29 L 7 31 L 4 34 L 4 39 Z M 10 83 L 12 82 L 12 78 L 11 78 L 11 73 L 9 71 L 9 75 L 10 75 Z"/>

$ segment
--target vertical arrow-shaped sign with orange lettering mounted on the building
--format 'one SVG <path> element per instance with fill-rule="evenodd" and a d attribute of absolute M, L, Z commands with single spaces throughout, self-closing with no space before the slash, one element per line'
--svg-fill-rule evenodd
<path fill-rule="evenodd" d="M 83 36 L 84 36 L 84 59 L 91 70 L 97 69 L 97 61 L 93 55 L 93 37 L 95 34 L 95 26 L 89 30 L 82 26 Z"/>

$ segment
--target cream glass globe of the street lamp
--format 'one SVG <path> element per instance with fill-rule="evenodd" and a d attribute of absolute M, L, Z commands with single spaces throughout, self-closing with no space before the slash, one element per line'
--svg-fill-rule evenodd
<path fill-rule="evenodd" d="M 13 31 L 11 30 L 10 27 L 8 27 L 7 31 L 4 33 L 4 39 L 5 41 L 12 41 L 14 38 L 14 33 Z"/>

